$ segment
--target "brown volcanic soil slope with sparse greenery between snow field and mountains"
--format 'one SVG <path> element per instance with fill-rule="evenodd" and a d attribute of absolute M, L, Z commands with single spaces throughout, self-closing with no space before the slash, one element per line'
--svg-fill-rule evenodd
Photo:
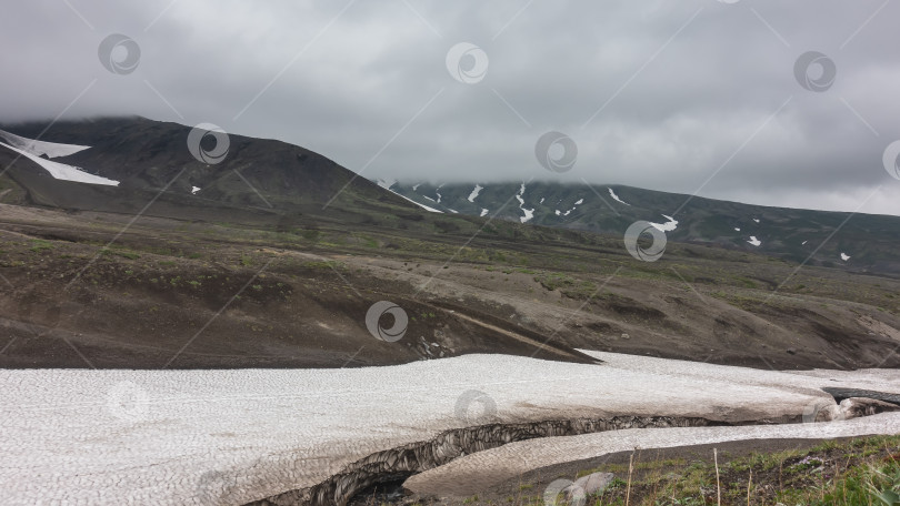
<path fill-rule="evenodd" d="M 767 368 L 900 365 L 889 279 L 804 269 L 802 291 L 774 294 L 747 280 L 792 265 L 697 246 L 650 266 L 604 240 L 460 249 L 452 234 L 378 226 L 131 219 L 0 204 L 1 367 L 591 361 L 579 347 Z M 409 316 L 398 342 L 367 330 L 379 301 Z"/>

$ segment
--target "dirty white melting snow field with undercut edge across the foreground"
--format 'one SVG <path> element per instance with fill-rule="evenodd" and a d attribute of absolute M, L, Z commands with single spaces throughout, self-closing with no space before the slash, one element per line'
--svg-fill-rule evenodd
<path fill-rule="evenodd" d="M 588 353 L 606 363 L 468 355 L 354 370 L 0 371 L 0 489 L 4 504 L 239 504 L 480 423 L 616 414 L 757 419 L 833 403 L 822 386 L 900 391 L 900 371 L 789 373 Z M 467 409 L 461 399 L 472 391 L 496 405 L 493 417 L 477 418 L 479 404 Z M 578 452 L 841 431 L 900 432 L 900 415 L 622 431 L 593 436 L 597 445 Z M 541 443 L 549 459 L 580 455 L 567 438 Z"/>

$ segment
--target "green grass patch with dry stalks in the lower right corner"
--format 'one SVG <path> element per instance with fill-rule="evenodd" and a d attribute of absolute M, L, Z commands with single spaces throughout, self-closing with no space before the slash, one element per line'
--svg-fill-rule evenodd
<path fill-rule="evenodd" d="M 616 479 L 584 503 L 609 506 L 702 505 L 900 505 L 900 436 L 826 442 L 804 451 L 752 453 L 730 459 L 657 459 L 604 465 L 578 476 L 612 472 Z M 576 477 L 578 477 L 576 476 Z M 569 477 L 572 478 L 572 477 Z M 481 504 L 542 506 L 538 487 L 528 496 Z M 562 498 L 559 505 L 566 504 Z"/>

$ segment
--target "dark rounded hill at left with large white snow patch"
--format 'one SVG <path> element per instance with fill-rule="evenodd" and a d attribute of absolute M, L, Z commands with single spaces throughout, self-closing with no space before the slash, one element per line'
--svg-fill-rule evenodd
<path fill-rule="evenodd" d="M 28 193 L 29 203 L 133 213 L 159 194 L 151 214 L 202 217 L 218 212 L 222 221 L 231 214 L 352 215 L 349 219 L 358 221 L 420 210 L 326 156 L 280 141 L 229 134 L 221 162 L 203 163 L 188 149 L 192 129 L 176 123 L 137 117 L 58 122 L 41 135 L 46 128 L 46 123 L 3 125 L 0 129 L 11 135 L 0 142 L 18 141 L 21 148 L 40 136 L 41 142 L 32 143 L 38 151 L 61 144 L 89 148 L 51 153 L 53 162 L 42 162 L 37 153 L 23 155 L 14 145 L 0 145 L 0 166 L 12 165 L 8 174 Z M 203 142 L 207 150 L 216 146 L 212 139 Z M 80 168 L 94 179 L 64 181 L 59 171 L 41 169 L 54 162 Z M 119 188 L 82 184 L 99 179 L 120 182 Z"/>

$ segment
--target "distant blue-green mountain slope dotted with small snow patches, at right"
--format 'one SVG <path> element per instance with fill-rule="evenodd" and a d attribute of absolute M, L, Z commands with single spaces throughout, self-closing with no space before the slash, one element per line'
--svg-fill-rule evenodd
<path fill-rule="evenodd" d="M 634 221 L 644 220 L 666 229 L 670 241 L 760 252 L 796 262 L 812 255 L 813 265 L 900 274 L 898 216 L 856 214 L 848 220 L 850 213 L 690 199 L 621 185 L 381 184 L 446 213 L 619 236 Z"/>

